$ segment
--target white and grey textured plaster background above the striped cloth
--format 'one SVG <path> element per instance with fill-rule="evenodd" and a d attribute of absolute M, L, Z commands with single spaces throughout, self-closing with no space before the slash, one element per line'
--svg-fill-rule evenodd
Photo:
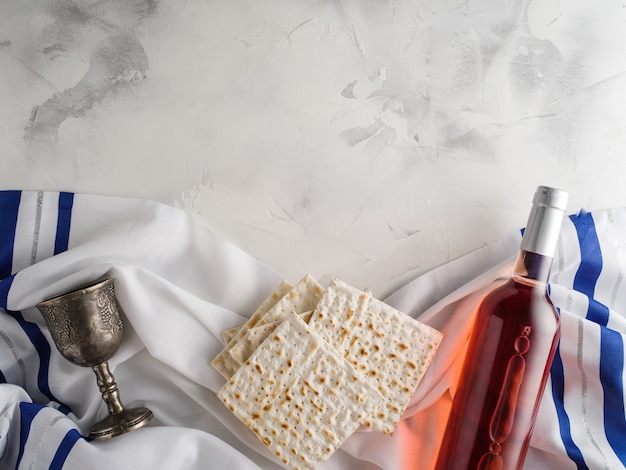
<path fill-rule="evenodd" d="M 626 1 L 0 2 L 0 189 L 158 200 L 379 296 L 626 205 Z"/>

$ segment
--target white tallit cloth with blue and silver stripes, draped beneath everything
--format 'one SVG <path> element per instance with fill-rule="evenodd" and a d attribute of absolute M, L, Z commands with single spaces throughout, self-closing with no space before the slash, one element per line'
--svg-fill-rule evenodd
<path fill-rule="evenodd" d="M 472 302 L 509 273 L 520 240 L 514 233 L 386 299 L 444 341 L 394 436 L 361 429 L 321 468 L 429 468 Z M 550 285 L 562 339 L 526 468 L 624 467 L 624 245 L 623 209 L 564 223 Z M 121 398 L 155 418 L 90 442 L 82 436 L 106 414 L 95 375 L 61 357 L 34 306 L 105 275 L 125 312 L 124 342 L 110 361 Z M 223 346 L 220 332 L 242 323 L 281 280 L 168 206 L 0 191 L 0 468 L 281 468 L 215 397 L 224 379 L 208 364 Z"/>

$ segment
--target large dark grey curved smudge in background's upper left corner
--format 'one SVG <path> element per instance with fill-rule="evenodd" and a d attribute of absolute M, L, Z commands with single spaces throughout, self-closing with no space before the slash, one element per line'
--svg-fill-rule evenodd
<path fill-rule="evenodd" d="M 132 30 L 155 12 L 154 1 L 112 0 L 85 8 L 58 2 L 51 8 L 56 22 L 42 34 L 50 44 L 42 48 L 49 60 L 66 56 L 85 35 L 96 42 L 80 81 L 32 109 L 25 132 L 29 141 L 56 141 L 64 121 L 84 116 L 109 94 L 146 78 L 149 69 L 146 52 Z"/>

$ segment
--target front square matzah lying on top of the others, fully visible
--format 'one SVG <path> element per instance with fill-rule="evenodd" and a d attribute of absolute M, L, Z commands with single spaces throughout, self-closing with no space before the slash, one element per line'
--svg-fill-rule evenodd
<path fill-rule="evenodd" d="M 381 395 L 293 314 L 217 396 L 292 469 L 316 468 L 382 403 Z"/>

